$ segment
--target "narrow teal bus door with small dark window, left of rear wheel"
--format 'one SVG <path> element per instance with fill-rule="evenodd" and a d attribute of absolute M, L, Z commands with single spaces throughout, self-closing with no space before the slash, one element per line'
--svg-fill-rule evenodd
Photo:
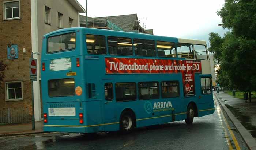
<path fill-rule="evenodd" d="M 104 83 L 104 116 L 105 122 L 117 120 L 115 113 L 116 101 L 114 100 L 114 79 L 103 80 Z"/>

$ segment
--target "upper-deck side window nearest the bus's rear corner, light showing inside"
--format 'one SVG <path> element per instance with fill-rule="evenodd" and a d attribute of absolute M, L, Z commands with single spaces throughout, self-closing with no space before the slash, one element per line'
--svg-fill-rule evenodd
<path fill-rule="evenodd" d="M 89 54 L 106 54 L 106 39 L 102 35 L 86 35 L 87 52 Z"/>

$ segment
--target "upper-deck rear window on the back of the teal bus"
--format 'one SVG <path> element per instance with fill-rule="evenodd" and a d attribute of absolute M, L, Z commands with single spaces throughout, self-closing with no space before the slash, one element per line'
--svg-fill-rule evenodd
<path fill-rule="evenodd" d="M 73 50 L 76 47 L 76 32 L 50 36 L 47 44 L 47 53 Z"/>

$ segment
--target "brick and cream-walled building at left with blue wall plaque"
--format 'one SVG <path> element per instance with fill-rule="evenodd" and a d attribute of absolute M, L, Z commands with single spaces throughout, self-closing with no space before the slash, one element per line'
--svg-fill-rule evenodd
<path fill-rule="evenodd" d="M 0 84 L 0 111 L 26 108 L 31 115 L 31 52 L 41 53 L 42 36 L 45 33 L 80 26 L 79 13 L 84 12 L 76 0 L 0 0 L 0 60 L 8 65 L 4 81 Z M 39 121 L 42 117 L 40 56 L 34 54 L 33 58 L 38 59 L 34 110 L 35 121 Z"/>

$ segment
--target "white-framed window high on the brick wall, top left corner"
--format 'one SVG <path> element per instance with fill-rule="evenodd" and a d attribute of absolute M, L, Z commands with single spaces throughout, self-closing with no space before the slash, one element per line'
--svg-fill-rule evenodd
<path fill-rule="evenodd" d="M 4 19 L 19 19 L 20 9 L 19 1 L 4 2 Z"/>

